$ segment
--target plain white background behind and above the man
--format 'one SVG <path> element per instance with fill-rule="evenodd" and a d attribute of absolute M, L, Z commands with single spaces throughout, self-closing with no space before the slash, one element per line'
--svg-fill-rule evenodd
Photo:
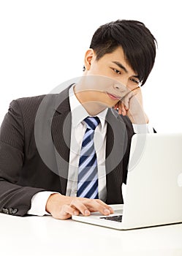
<path fill-rule="evenodd" d="M 158 132 L 182 132 L 181 1 L 0 1 L 0 123 L 12 99 L 48 94 L 82 75 L 94 31 L 117 19 L 140 20 L 158 41 L 143 87 Z"/>

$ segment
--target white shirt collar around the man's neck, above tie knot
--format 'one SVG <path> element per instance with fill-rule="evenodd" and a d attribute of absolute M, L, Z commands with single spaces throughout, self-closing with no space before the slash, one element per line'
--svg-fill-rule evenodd
<path fill-rule="evenodd" d="M 75 96 L 75 93 L 73 90 L 74 86 L 75 85 L 73 85 L 69 89 L 69 105 L 70 105 L 70 109 L 72 112 L 72 126 L 76 127 L 78 124 L 80 124 L 80 122 L 83 121 L 83 119 L 85 119 L 87 116 L 89 116 L 89 114 L 86 111 L 86 109 L 83 108 L 83 105 L 80 104 L 79 100 Z M 106 108 L 105 110 L 100 112 L 98 115 L 96 115 L 100 119 L 102 129 L 105 125 L 105 116 L 107 115 L 107 110 L 108 110 L 108 108 Z"/>

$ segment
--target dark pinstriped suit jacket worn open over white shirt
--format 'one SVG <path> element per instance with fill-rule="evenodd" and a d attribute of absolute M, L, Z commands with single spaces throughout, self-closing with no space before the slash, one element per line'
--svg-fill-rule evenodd
<path fill-rule="evenodd" d="M 121 184 L 134 132 L 129 118 L 113 109 L 106 120 L 106 203 L 123 203 Z M 11 102 L 0 130 L 1 212 L 26 215 L 37 192 L 66 195 L 70 134 L 68 89 Z"/>

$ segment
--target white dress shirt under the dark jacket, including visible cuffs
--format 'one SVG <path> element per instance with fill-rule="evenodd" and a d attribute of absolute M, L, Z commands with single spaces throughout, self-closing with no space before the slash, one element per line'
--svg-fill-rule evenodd
<path fill-rule="evenodd" d="M 82 146 L 83 135 L 86 132 L 86 124 L 83 119 L 89 116 L 83 105 L 80 104 L 75 96 L 74 86 L 69 89 L 69 105 L 72 112 L 72 127 L 71 127 L 71 141 L 69 153 L 69 171 L 67 181 L 67 196 L 77 196 L 77 171 L 80 159 L 80 150 Z M 105 173 L 105 147 L 106 147 L 106 132 L 107 122 L 105 116 L 107 110 L 103 110 L 98 116 L 100 124 L 96 127 L 94 132 L 94 146 L 96 150 L 97 165 L 98 165 L 98 181 L 99 181 L 99 199 L 105 201 L 107 197 L 106 189 L 106 173 Z M 151 133 L 153 128 L 149 124 L 133 124 L 135 133 Z M 31 198 L 31 208 L 28 214 L 43 216 L 48 214 L 45 211 L 45 205 L 48 197 L 55 192 L 38 192 Z"/>

